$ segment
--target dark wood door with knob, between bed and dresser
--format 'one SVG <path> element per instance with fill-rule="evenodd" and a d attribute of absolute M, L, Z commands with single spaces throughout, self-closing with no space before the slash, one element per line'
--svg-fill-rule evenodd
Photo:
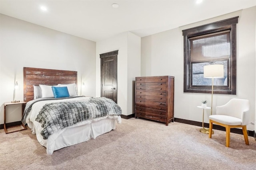
<path fill-rule="evenodd" d="M 101 58 L 101 97 L 117 103 L 117 54 L 112 51 L 100 55 Z"/>

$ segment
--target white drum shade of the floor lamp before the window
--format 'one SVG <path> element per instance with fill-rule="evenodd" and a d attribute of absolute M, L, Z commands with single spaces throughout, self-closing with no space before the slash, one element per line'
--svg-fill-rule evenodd
<path fill-rule="evenodd" d="M 224 77 L 224 65 L 211 64 L 204 66 L 204 78 L 223 78 Z"/>

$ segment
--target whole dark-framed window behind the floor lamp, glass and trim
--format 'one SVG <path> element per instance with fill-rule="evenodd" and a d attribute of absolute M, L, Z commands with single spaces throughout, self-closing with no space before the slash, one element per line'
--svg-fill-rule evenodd
<path fill-rule="evenodd" d="M 204 66 L 223 64 L 224 78 L 214 78 L 214 93 L 236 94 L 236 23 L 238 17 L 182 30 L 184 92 L 211 93 Z"/>

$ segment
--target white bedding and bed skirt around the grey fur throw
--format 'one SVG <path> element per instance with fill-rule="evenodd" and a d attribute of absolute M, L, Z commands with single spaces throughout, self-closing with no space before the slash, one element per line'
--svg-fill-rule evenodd
<path fill-rule="evenodd" d="M 87 97 L 89 99 L 89 97 Z M 121 123 L 121 117 L 118 115 L 108 115 L 104 117 L 98 117 L 94 119 L 89 119 L 86 121 L 78 122 L 75 125 L 66 127 L 57 133 L 54 133 L 48 137 L 48 139 L 43 139 L 40 132 L 43 127 L 41 123 L 35 121 L 42 106 L 46 103 L 52 102 L 63 102 L 70 100 L 80 100 L 85 99 L 85 97 L 70 98 L 62 100 L 44 100 L 36 102 L 33 104 L 32 109 L 26 118 L 26 123 L 28 127 L 31 128 L 32 133 L 36 134 L 38 142 L 46 147 L 47 154 L 52 154 L 54 150 L 58 150 L 64 147 L 75 145 L 89 139 L 95 139 L 97 136 L 107 133 L 116 128 L 117 123 Z"/>

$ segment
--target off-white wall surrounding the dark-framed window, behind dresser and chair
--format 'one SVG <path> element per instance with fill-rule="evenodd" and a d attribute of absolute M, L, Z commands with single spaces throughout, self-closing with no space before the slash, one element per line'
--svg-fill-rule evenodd
<path fill-rule="evenodd" d="M 235 16 L 239 16 L 237 24 L 236 95 L 214 94 L 213 113 L 215 113 L 216 106 L 225 104 L 231 98 L 244 98 L 250 100 L 250 121 L 254 122 L 256 6 L 142 38 L 141 76 L 175 76 L 174 117 L 202 122 L 202 110 L 196 106 L 200 106 L 203 99 L 211 100 L 211 94 L 183 92 L 182 30 Z M 209 122 L 208 115 L 210 115 L 210 110 L 205 111 L 204 122 Z M 247 128 L 254 130 L 253 125 L 248 125 Z"/>

